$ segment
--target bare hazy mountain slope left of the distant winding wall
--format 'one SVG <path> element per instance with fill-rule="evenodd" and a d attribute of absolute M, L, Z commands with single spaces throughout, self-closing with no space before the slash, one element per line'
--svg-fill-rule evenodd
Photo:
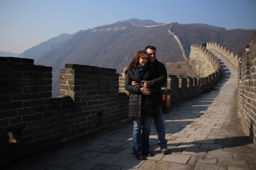
<path fill-rule="evenodd" d="M 58 93 L 59 70 L 65 63 L 114 68 L 121 73 L 135 52 L 147 45 L 156 46 L 158 59 L 162 62 L 183 60 L 178 43 L 168 32 L 170 26 L 138 27 L 131 23 L 117 23 L 96 27 L 77 33 L 35 63 L 53 67 L 53 91 Z M 55 92 L 54 96 L 57 95 Z"/>

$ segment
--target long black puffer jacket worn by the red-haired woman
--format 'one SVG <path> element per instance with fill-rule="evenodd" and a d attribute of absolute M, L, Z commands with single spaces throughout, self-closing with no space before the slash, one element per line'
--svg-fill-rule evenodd
<path fill-rule="evenodd" d="M 153 80 L 154 78 L 156 78 L 156 72 L 154 67 L 149 65 L 144 71 L 141 80 Z M 142 95 L 139 91 L 140 86 L 132 86 L 132 81 L 140 82 L 136 70 L 129 68 L 125 78 L 125 90 L 130 92 L 129 117 L 139 118 L 142 110 L 146 111 L 148 117 L 157 116 L 156 97 L 154 95 L 157 92 L 157 88 L 152 88 L 149 96 Z"/>

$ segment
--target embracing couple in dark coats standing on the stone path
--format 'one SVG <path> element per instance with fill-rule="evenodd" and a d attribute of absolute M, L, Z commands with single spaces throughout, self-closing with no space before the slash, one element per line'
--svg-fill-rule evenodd
<path fill-rule="evenodd" d="M 136 52 L 124 74 L 125 90 L 130 92 L 129 117 L 133 118 L 133 154 L 138 160 L 145 159 L 143 154 L 153 156 L 149 151 L 152 119 L 161 153 L 168 154 L 161 107 L 161 86 L 167 81 L 167 71 L 164 64 L 156 59 L 156 48 L 149 45 Z"/>

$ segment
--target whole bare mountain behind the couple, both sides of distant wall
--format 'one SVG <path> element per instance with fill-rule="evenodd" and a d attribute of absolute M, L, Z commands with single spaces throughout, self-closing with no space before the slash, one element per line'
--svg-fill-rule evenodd
<path fill-rule="evenodd" d="M 113 68 L 121 73 L 135 52 L 147 45 L 156 47 L 157 59 L 163 63 L 184 60 L 181 48 L 170 32 L 178 36 L 186 56 L 189 56 L 192 44 L 213 41 L 236 52 L 245 47 L 254 31 L 226 30 L 207 24 L 158 24 L 151 20 L 140 22 L 131 19 L 79 31 L 59 48 L 36 59 L 35 64 L 53 67 L 53 96 L 57 96 L 59 70 L 64 68 L 65 63 Z"/>

